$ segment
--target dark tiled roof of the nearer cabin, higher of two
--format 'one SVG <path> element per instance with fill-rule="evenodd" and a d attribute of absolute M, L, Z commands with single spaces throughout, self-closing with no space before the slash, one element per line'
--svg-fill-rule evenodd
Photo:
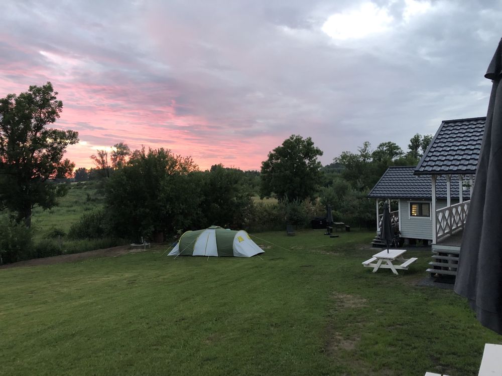
<path fill-rule="evenodd" d="M 444 120 L 416 174 L 476 173 L 486 117 Z"/>

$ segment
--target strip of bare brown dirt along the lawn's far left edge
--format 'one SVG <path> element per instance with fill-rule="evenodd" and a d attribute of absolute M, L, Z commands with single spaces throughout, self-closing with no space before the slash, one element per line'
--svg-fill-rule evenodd
<path fill-rule="evenodd" d="M 2 265 L 0 269 L 16 268 L 20 266 L 37 266 L 37 265 L 53 265 L 64 262 L 81 261 L 96 257 L 115 257 L 125 255 L 127 253 L 144 252 L 144 249 L 130 249 L 130 246 L 118 246 L 104 249 L 96 249 L 94 251 L 74 253 L 72 255 L 59 255 L 52 257 L 44 257 L 43 259 L 32 259 L 26 261 L 19 261 L 12 264 Z"/>

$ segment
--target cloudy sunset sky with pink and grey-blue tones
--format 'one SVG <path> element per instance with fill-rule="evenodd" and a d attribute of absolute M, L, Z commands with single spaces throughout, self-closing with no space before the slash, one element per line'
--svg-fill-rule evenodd
<path fill-rule="evenodd" d="M 52 82 L 65 157 L 125 142 L 259 169 L 291 134 L 323 164 L 485 116 L 502 2 L 0 0 L 0 97 Z"/>

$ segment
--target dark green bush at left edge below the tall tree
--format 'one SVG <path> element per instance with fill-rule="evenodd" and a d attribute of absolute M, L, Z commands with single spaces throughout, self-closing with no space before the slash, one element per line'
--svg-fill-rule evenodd
<path fill-rule="evenodd" d="M 0 216 L 0 264 L 28 260 L 32 257 L 32 233 L 10 213 Z"/>

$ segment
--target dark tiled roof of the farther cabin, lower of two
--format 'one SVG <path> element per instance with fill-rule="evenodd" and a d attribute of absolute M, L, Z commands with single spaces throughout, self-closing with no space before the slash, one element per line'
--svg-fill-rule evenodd
<path fill-rule="evenodd" d="M 415 175 L 415 166 L 392 166 L 385 171 L 375 184 L 368 198 L 370 199 L 431 199 L 431 175 Z M 451 176 L 450 197 L 458 199 L 458 177 Z M 446 199 L 446 177 L 438 176 L 436 198 Z M 463 199 L 469 199 L 469 191 L 464 191 Z"/>

